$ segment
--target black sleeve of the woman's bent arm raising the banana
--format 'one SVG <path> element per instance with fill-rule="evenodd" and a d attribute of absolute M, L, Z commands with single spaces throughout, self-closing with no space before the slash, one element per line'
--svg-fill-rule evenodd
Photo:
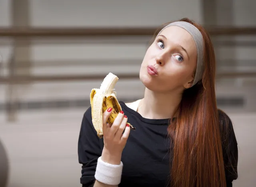
<path fill-rule="evenodd" d="M 78 161 L 82 164 L 82 176 L 80 178 L 82 187 L 94 185 L 96 165 L 103 149 L 102 142 L 92 124 L 92 112 L 91 107 L 89 107 L 82 118 L 78 137 Z"/>

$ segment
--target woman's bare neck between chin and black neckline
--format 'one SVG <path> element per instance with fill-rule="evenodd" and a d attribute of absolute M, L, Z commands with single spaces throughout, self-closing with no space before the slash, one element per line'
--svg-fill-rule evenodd
<path fill-rule="evenodd" d="M 146 88 L 144 98 L 138 106 L 138 113 L 148 119 L 168 119 L 174 113 L 182 99 L 182 94 L 173 92 L 154 92 Z"/>

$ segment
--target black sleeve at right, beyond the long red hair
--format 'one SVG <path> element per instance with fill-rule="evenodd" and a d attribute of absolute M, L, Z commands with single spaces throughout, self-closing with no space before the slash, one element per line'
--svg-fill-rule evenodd
<path fill-rule="evenodd" d="M 232 181 L 238 178 L 238 143 L 231 119 L 226 113 L 221 112 L 222 123 L 222 153 L 224 160 L 227 187 L 232 187 Z"/>

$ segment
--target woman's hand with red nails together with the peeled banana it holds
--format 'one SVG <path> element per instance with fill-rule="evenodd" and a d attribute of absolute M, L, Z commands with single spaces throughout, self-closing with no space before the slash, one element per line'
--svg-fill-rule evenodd
<path fill-rule="evenodd" d="M 130 134 L 122 107 L 116 98 L 114 86 L 118 77 L 109 73 L 103 80 L 100 89 L 92 89 L 90 103 L 92 107 L 92 123 L 99 138 L 104 135 L 102 160 L 111 164 L 120 164 L 122 151 Z M 124 133 L 123 133 L 124 132 Z"/>

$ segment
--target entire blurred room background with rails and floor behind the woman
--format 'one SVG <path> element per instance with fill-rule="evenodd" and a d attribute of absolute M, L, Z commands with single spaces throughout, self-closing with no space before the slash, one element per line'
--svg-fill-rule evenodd
<path fill-rule="evenodd" d="M 162 24 L 210 32 L 218 107 L 238 141 L 234 187 L 256 183 L 256 1 L 0 0 L 0 187 L 80 187 L 77 141 L 92 88 L 143 97 L 140 64 Z"/>

